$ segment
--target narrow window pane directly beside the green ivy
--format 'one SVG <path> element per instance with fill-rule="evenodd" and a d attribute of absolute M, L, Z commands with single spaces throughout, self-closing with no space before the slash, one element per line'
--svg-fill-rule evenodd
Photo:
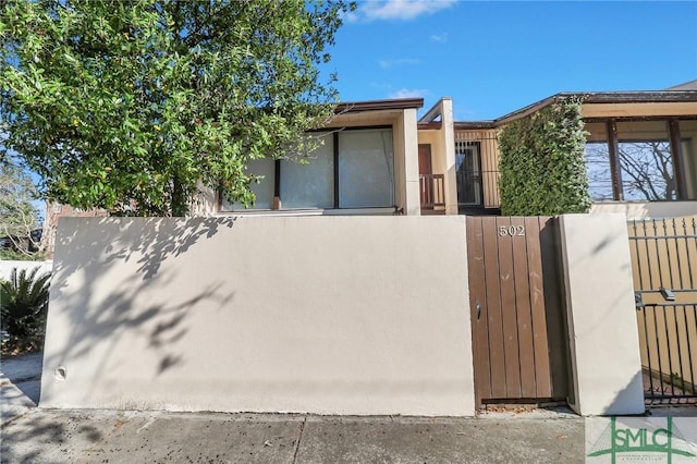
<path fill-rule="evenodd" d="M 613 199 L 607 125 L 604 122 L 586 123 L 586 131 L 589 132 L 585 150 L 588 193 L 596 202 Z"/>

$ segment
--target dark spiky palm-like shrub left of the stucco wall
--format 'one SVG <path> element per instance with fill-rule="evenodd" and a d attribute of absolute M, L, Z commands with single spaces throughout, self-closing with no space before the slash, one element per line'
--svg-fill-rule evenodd
<path fill-rule="evenodd" d="M 12 269 L 0 282 L 0 329 L 4 352 L 36 351 L 44 344 L 51 273 Z"/>

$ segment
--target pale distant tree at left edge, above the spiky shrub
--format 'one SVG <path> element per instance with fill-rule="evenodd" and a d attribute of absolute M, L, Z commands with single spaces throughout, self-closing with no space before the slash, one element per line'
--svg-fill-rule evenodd
<path fill-rule="evenodd" d="M 2 259 L 26 259 L 36 255 L 39 244 L 32 232 L 39 228 L 38 211 L 32 202 L 39 195 L 28 173 L 13 162 L 0 159 L 0 239 L 11 242 L 0 248 Z"/>

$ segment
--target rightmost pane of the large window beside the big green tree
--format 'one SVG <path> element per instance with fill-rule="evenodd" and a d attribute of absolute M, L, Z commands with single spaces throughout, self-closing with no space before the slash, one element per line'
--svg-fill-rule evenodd
<path fill-rule="evenodd" d="M 394 206 L 392 130 L 339 133 L 339 206 Z"/>

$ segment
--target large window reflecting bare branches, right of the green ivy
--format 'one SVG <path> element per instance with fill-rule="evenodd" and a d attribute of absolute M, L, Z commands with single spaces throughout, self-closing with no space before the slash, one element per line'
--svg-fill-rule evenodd
<path fill-rule="evenodd" d="M 591 198 L 628 202 L 695 198 L 695 188 L 690 186 L 694 174 L 687 168 L 690 155 L 685 149 L 686 139 L 692 139 L 689 127 L 695 122 L 587 122 L 585 155 Z M 681 160 L 677 166 L 676 159 Z"/>

